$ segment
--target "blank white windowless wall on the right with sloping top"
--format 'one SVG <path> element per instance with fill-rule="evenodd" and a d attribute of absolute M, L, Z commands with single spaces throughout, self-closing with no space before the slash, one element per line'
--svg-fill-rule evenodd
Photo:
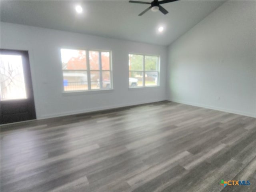
<path fill-rule="evenodd" d="M 168 48 L 168 100 L 256 116 L 256 2 L 227 1 Z"/>

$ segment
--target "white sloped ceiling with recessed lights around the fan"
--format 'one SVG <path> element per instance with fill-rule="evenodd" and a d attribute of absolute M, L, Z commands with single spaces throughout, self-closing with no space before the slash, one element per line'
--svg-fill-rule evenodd
<path fill-rule="evenodd" d="M 147 1 L 150 2 L 150 1 Z M 169 45 L 224 1 L 176 1 L 162 4 L 168 14 L 128 1 L 0 1 L 1 21 L 110 38 Z M 77 14 L 80 4 L 83 13 Z M 159 34 L 158 27 L 164 26 Z"/>

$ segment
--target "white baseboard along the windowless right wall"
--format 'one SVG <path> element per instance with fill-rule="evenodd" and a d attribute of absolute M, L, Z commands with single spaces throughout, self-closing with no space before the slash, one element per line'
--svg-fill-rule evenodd
<path fill-rule="evenodd" d="M 176 99 L 168 99 L 168 101 L 256 118 L 256 114 L 248 113 L 248 112 L 242 112 L 242 111 L 237 111 L 237 110 L 230 110 L 230 109 L 219 108 L 219 107 L 214 107 L 214 106 L 209 106 L 209 105 L 204 105 L 204 104 L 199 104 L 199 103 L 194 103 L 194 102 L 186 102 L 186 101 L 182 101 L 182 100 L 176 100 Z"/>

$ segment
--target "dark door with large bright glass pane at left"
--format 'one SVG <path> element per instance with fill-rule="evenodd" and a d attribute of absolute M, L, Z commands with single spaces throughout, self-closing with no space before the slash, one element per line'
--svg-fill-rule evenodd
<path fill-rule="evenodd" d="M 0 50 L 1 124 L 36 119 L 28 51 Z"/>

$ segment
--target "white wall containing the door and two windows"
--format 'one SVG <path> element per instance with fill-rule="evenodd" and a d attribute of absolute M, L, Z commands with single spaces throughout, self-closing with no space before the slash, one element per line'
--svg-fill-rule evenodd
<path fill-rule="evenodd" d="M 166 46 L 1 22 L 1 48 L 29 51 L 38 119 L 166 100 Z M 63 93 L 60 48 L 111 50 L 114 90 Z M 128 88 L 129 52 L 160 55 L 159 87 Z"/>

